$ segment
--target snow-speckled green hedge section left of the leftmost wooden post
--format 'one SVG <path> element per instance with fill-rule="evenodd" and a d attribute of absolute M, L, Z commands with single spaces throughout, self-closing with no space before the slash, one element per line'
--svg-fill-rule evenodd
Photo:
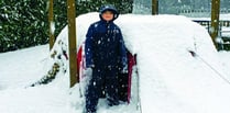
<path fill-rule="evenodd" d="M 44 0 L 0 1 L 0 52 L 47 42 Z"/>

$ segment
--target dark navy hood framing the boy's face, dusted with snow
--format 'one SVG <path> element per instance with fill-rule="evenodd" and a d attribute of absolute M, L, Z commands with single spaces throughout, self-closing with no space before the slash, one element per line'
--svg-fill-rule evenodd
<path fill-rule="evenodd" d="M 112 19 L 112 21 L 114 21 L 116 19 L 118 19 L 118 16 L 119 16 L 119 12 L 118 12 L 118 10 L 114 8 L 114 5 L 112 5 L 112 4 L 106 4 L 106 5 L 102 5 L 101 8 L 100 8 L 100 10 L 99 10 L 99 16 L 100 16 L 100 19 L 102 20 L 102 13 L 105 12 L 105 11 L 112 11 L 112 13 L 113 13 L 113 19 Z"/>

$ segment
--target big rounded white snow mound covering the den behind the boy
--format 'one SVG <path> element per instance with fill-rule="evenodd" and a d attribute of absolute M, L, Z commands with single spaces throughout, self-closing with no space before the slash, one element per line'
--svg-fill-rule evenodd
<path fill-rule="evenodd" d="M 98 13 L 78 16 L 78 47 L 90 23 L 98 20 Z M 125 14 L 116 23 L 129 50 L 138 54 L 142 112 L 224 113 L 230 110 L 230 84 L 202 26 L 178 15 Z M 59 35 L 64 37 L 67 37 L 66 30 Z"/>

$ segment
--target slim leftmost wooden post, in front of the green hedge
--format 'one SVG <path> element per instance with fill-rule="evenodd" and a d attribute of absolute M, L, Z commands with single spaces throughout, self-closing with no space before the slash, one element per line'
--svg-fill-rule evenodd
<path fill-rule="evenodd" d="M 54 46 L 54 0 L 50 0 L 48 2 L 48 35 L 50 35 L 50 49 Z"/>

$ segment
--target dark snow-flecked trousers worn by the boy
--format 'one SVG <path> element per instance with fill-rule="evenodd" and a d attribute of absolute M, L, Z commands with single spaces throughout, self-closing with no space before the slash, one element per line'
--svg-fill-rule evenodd
<path fill-rule="evenodd" d="M 105 94 L 108 105 L 119 104 L 118 69 L 112 67 L 94 68 L 92 77 L 86 90 L 86 110 L 96 112 L 98 100 Z"/>

